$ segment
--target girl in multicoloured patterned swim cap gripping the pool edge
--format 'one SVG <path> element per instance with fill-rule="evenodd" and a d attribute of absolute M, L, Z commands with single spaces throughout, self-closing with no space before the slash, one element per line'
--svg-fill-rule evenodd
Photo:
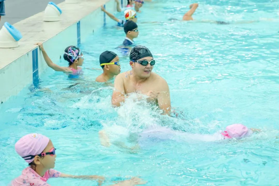
<path fill-rule="evenodd" d="M 47 55 L 42 43 L 36 43 L 35 45 L 39 45 L 39 48 L 43 53 L 45 62 L 47 63 L 47 65 L 49 67 L 51 67 L 55 71 L 61 71 L 61 72 L 68 73 L 68 74 L 71 74 L 74 76 L 82 74 L 82 70 L 81 70 L 80 66 L 82 66 L 84 58 L 83 58 L 83 54 L 82 54 L 81 50 L 78 47 L 69 46 L 64 50 L 63 58 L 69 62 L 69 66 L 61 67 L 61 66 L 58 66 L 57 64 L 54 64 L 51 61 L 51 59 Z"/>

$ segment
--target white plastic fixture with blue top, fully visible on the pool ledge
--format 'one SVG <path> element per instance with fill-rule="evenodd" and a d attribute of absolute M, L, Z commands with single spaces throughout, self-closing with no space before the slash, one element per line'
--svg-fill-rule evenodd
<path fill-rule="evenodd" d="M 61 9 L 55 3 L 49 2 L 45 8 L 44 21 L 59 21 L 61 14 Z"/>

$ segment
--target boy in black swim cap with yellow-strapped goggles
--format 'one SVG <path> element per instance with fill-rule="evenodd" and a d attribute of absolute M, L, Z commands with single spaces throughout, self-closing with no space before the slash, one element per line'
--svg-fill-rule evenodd
<path fill-rule="evenodd" d="M 104 72 L 96 78 L 97 82 L 107 82 L 121 70 L 119 57 L 111 51 L 105 51 L 100 55 L 100 66 Z"/>

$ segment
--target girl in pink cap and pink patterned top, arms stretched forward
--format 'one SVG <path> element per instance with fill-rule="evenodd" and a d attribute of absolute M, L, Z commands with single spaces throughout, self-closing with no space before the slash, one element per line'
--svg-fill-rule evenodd
<path fill-rule="evenodd" d="M 104 181 L 102 176 L 74 176 L 54 170 L 56 149 L 52 141 L 42 134 L 27 134 L 21 137 L 15 144 L 15 150 L 29 163 L 29 166 L 22 171 L 19 177 L 11 182 L 12 186 L 50 186 L 47 180 L 57 177 L 98 180 L 98 185 L 101 185 Z M 140 185 L 144 183 L 140 178 L 132 178 L 114 184 L 114 186 Z"/>

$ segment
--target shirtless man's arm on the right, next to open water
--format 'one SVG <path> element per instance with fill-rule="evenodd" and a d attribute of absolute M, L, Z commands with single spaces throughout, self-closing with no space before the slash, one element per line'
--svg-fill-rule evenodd
<path fill-rule="evenodd" d="M 157 97 L 159 108 L 162 109 L 166 114 L 170 115 L 170 90 L 167 81 L 164 79 L 160 83 L 160 94 Z"/>

